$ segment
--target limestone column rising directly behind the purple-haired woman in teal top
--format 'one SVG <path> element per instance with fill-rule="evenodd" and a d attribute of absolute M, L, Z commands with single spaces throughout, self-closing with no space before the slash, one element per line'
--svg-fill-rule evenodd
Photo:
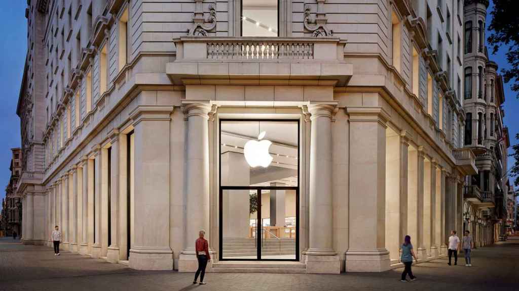
<path fill-rule="evenodd" d="M 409 137 L 405 130 L 400 133 L 400 230 L 399 248 L 407 235 L 407 188 L 408 188 Z"/>

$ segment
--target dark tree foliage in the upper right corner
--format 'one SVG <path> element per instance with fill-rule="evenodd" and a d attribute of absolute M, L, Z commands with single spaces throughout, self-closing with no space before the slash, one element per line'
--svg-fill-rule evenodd
<path fill-rule="evenodd" d="M 519 13 L 513 8 L 517 7 L 517 0 L 494 0 L 493 3 L 488 45 L 493 53 L 503 45 L 508 46 L 506 56 L 510 68 L 501 69 L 501 74 L 505 83 L 512 82 L 512 91 L 517 92 L 519 98 Z"/>

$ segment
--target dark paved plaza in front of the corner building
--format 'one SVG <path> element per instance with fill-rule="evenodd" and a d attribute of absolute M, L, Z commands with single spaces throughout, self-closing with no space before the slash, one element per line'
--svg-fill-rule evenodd
<path fill-rule="evenodd" d="M 402 269 L 383 273 L 208 273 L 207 285 L 192 285 L 193 273 L 137 271 L 76 253 L 53 255 L 45 246 L 0 238 L 0 290 L 518 290 L 519 237 L 474 250 L 473 267 L 447 266 L 445 258 L 414 266 L 415 282 L 400 282 Z"/>

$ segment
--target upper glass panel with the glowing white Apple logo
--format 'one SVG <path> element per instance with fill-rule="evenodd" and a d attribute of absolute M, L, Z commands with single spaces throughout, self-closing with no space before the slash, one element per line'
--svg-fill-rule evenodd
<path fill-rule="evenodd" d="M 222 121 L 222 186 L 297 186 L 297 121 Z"/>

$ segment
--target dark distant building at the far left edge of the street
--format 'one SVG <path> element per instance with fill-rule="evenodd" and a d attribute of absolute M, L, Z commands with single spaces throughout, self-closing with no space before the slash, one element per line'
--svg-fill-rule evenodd
<path fill-rule="evenodd" d="M 21 236 L 21 221 L 19 215 L 20 195 L 17 193 L 18 180 L 22 171 L 22 151 L 20 148 L 11 149 L 12 157 L 9 170 L 11 178 L 5 187 L 5 198 L 2 201 L 2 227 L 5 236 L 12 236 L 15 231 Z"/>

